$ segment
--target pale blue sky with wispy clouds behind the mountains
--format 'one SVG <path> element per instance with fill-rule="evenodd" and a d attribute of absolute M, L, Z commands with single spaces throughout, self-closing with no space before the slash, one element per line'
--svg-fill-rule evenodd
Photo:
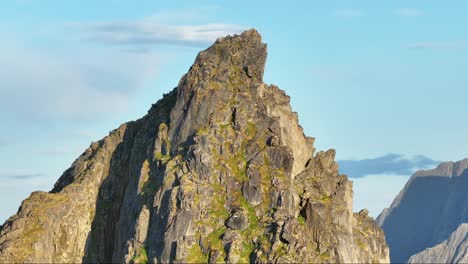
<path fill-rule="evenodd" d="M 468 156 L 467 9 L 462 0 L 4 1 L 0 221 L 31 191 L 50 190 L 91 141 L 144 115 L 199 50 L 252 27 L 268 43 L 265 81 L 292 97 L 318 149 L 363 162 L 345 172 L 359 174 L 356 210 L 377 215 L 427 160 Z"/>

